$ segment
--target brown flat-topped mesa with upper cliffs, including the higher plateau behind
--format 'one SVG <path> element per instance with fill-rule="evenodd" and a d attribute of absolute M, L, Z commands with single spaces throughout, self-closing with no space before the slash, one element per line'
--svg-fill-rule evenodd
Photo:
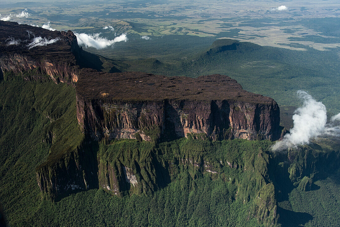
<path fill-rule="evenodd" d="M 32 46 L 39 39 L 45 43 Z M 78 82 L 77 117 L 91 139 L 168 140 L 187 133 L 204 133 L 213 140 L 280 137 L 277 103 L 244 91 L 227 76 L 80 70 L 99 66 L 78 46 L 73 32 L 16 22 L 0 22 L 0 49 L 0 80 L 13 73 L 25 80 Z"/>

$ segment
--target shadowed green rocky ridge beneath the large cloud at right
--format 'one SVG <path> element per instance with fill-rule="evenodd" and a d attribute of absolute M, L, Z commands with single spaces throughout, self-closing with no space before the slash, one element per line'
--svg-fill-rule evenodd
<path fill-rule="evenodd" d="M 270 178 L 276 180 L 277 191 L 284 192 L 295 187 L 309 191 L 315 186 L 313 182 L 340 167 L 340 152 L 311 143 L 275 152 L 270 163 Z"/>

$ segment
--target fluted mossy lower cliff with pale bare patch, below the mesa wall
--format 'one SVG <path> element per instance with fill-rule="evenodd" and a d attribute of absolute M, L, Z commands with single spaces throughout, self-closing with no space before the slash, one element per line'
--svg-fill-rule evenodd
<path fill-rule="evenodd" d="M 146 157 L 133 157 L 132 152 L 115 160 L 98 155 L 99 188 L 112 194 L 151 194 L 170 183 L 168 162 L 150 152 Z"/>

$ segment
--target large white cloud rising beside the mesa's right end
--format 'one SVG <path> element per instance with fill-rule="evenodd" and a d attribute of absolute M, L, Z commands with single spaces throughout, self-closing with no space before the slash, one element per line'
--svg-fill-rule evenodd
<path fill-rule="evenodd" d="M 311 139 L 320 135 L 340 135 L 340 113 L 327 123 L 327 111 L 322 102 L 316 101 L 304 91 L 297 91 L 297 97 L 303 100 L 303 105 L 294 111 L 294 126 L 282 141 L 273 145 L 274 151 L 308 144 Z"/>

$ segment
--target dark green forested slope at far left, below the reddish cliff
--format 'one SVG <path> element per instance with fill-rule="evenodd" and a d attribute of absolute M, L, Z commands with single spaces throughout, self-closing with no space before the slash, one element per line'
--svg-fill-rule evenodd
<path fill-rule="evenodd" d="M 0 83 L 0 199 L 11 226 L 21 226 L 40 204 L 35 167 L 52 150 L 77 146 L 75 91 L 65 84 Z"/>

